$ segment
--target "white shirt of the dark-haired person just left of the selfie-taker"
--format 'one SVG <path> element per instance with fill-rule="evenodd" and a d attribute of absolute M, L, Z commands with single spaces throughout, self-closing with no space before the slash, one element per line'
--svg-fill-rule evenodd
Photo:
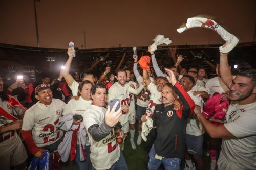
<path fill-rule="evenodd" d="M 66 114 L 80 114 L 80 115 L 83 115 L 84 112 L 90 108 L 92 104 L 92 100 L 89 100 L 89 101 L 86 101 L 84 99 L 82 99 L 81 96 L 79 96 L 79 99 L 78 100 L 75 100 L 75 99 L 71 99 L 69 101 L 69 103 L 66 105 L 62 115 L 66 115 Z M 77 142 L 79 143 L 78 139 L 77 139 Z M 89 146 L 89 138 L 88 138 L 88 135 L 87 135 L 87 138 L 86 138 L 86 145 Z"/>

